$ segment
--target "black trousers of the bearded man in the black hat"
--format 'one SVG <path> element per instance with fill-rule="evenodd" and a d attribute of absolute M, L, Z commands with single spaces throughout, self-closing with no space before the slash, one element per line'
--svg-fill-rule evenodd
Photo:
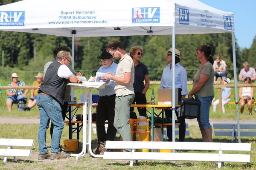
<path fill-rule="evenodd" d="M 98 144 L 105 144 L 105 141 L 113 141 L 116 136 L 114 127 L 116 95 L 102 96 L 99 98 L 96 108 L 97 137 Z M 107 133 L 105 131 L 105 121 L 108 120 Z"/>

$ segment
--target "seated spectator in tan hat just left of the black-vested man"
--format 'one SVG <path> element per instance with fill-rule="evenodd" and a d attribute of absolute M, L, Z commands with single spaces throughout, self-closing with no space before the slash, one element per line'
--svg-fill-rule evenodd
<path fill-rule="evenodd" d="M 35 76 L 36 81 L 33 82 L 33 86 L 39 86 L 43 82 L 43 73 L 38 73 L 38 75 Z M 29 104 L 24 108 L 25 111 L 30 111 L 31 108 L 33 108 L 36 105 L 36 98 L 38 96 L 37 93 L 38 89 L 32 89 L 31 90 L 31 97 L 29 99 Z"/>

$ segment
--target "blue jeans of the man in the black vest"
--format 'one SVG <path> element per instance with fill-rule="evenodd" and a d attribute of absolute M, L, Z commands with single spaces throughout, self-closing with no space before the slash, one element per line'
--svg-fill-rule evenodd
<path fill-rule="evenodd" d="M 46 96 L 43 94 L 38 94 L 36 102 L 40 113 L 40 125 L 38 129 L 39 154 L 48 153 L 45 139 L 49 119 L 54 125 L 52 133 L 51 153 L 60 153 L 61 148 L 59 147 L 59 143 L 61 139 L 61 133 L 64 128 L 61 105 L 54 98 L 52 98 L 52 96 Z"/>

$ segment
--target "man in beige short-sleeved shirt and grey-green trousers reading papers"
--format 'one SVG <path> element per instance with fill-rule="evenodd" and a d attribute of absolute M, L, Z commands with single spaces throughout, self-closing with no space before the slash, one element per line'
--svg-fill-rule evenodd
<path fill-rule="evenodd" d="M 130 106 L 134 100 L 134 62 L 126 54 L 121 42 L 112 41 L 108 44 L 107 51 L 113 58 L 120 59 L 116 74 L 105 74 L 103 78 L 115 81 L 116 91 L 114 127 L 122 136 L 123 141 L 131 141 Z M 130 151 L 130 150 L 125 150 Z"/>

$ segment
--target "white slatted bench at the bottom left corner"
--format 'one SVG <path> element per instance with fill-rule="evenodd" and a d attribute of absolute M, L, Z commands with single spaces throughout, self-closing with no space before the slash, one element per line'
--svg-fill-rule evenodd
<path fill-rule="evenodd" d="M 0 156 L 4 156 L 4 163 L 8 156 L 13 156 L 14 161 L 17 161 L 16 156 L 30 157 L 30 149 L 13 149 L 13 147 L 32 147 L 33 145 L 34 139 L 0 139 L 0 146 L 7 146 L 7 149 L 0 149 Z"/>

